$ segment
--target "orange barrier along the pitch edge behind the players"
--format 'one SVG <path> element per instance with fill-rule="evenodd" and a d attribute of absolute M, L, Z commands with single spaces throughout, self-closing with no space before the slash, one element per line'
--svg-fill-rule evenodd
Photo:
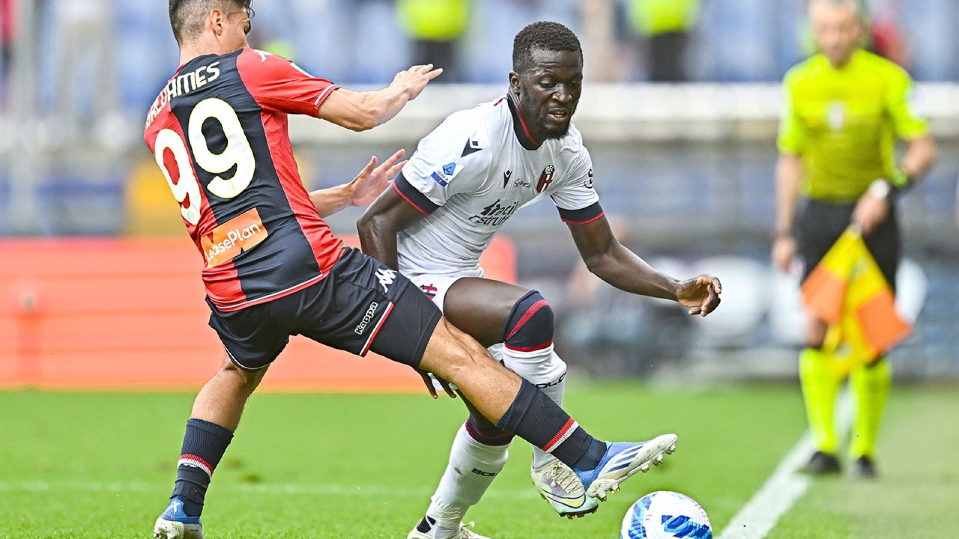
<path fill-rule="evenodd" d="M 480 262 L 488 277 L 516 282 L 508 240 L 497 238 Z M 0 387 L 201 386 L 223 360 L 201 268 L 185 238 L 0 240 Z M 299 337 L 262 387 L 426 390 L 406 365 Z"/>

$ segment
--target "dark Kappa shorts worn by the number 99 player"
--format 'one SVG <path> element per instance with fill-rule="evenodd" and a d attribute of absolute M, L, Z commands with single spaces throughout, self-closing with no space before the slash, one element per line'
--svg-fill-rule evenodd
<path fill-rule="evenodd" d="M 363 356 L 369 350 L 419 366 L 441 316 L 405 276 L 347 248 L 323 280 L 301 291 L 222 312 L 210 305 L 210 327 L 230 361 L 259 370 L 279 356 L 291 335 Z"/>

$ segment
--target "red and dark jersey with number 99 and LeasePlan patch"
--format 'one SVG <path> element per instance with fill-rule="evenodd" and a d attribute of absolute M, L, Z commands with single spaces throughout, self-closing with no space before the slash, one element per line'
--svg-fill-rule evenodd
<path fill-rule="evenodd" d="M 144 139 L 222 311 L 306 288 L 339 258 L 342 243 L 310 201 L 287 129 L 288 114 L 316 116 L 337 88 L 244 48 L 191 59 L 153 103 Z"/>

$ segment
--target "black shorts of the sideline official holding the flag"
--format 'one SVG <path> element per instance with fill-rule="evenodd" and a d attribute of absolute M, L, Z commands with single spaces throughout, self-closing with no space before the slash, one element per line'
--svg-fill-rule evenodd
<path fill-rule="evenodd" d="M 803 280 L 826 256 L 832 244 L 852 223 L 855 203 L 831 203 L 816 199 L 803 199 L 796 216 L 796 241 L 805 267 Z M 901 256 L 900 231 L 896 218 L 896 205 L 889 208 L 889 215 L 876 229 L 864 238 L 869 252 L 886 282 L 896 292 L 896 271 Z"/>

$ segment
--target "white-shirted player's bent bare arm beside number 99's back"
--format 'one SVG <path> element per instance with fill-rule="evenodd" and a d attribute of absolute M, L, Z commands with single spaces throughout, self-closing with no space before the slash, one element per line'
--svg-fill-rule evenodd
<path fill-rule="evenodd" d="M 366 208 L 363 217 L 357 222 L 363 253 L 392 269 L 399 269 L 396 233 L 424 217 L 396 189 L 386 189 Z"/>

